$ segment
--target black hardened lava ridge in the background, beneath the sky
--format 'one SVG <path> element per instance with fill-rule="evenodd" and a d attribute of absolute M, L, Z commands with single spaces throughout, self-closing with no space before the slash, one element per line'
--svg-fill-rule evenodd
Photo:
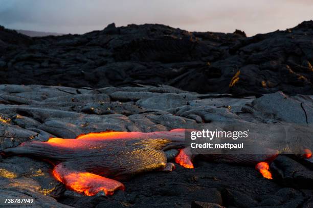
<path fill-rule="evenodd" d="M 3 84 L 139 83 L 198 93 L 313 94 L 312 38 L 313 21 L 253 37 L 238 30 L 188 32 L 160 24 L 109 24 L 83 35 L 41 38 L 0 28 L 0 76 Z M 230 87 L 234 76 L 238 82 Z"/>

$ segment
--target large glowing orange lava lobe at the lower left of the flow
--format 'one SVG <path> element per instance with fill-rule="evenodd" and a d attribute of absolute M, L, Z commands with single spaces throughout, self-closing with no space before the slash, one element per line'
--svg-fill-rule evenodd
<path fill-rule="evenodd" d="M 116 190 L 125 190 L 124 185 L 117 180 L 88 172 L 67 171 L 62 166 L 56 166 L 53 175 L 66 187 L 83 192 L 87 196 L 93 196 L 99 191 L 103 191 L 106 196 L 109 196 L 113 195 Z"/>

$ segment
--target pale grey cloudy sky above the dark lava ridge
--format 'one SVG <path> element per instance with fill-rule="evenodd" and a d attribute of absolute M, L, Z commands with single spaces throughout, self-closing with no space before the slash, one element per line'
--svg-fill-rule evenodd
<path fill-rule="evenodd" d="M 107 24 L 160 23 L 188 31 L 248 36 L 313 19 L 313 0 L 0 0 L 0 25 L 82 34 Z"/>

